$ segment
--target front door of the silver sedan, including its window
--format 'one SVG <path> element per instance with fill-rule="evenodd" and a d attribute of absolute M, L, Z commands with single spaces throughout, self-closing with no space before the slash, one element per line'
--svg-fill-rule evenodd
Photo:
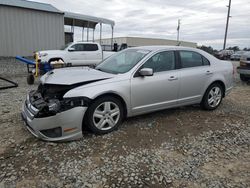
<path fill-rule="evenodd" d="M 133 114 L 173 107 L 177 104 L 179 70 L 174 51 L 163 51 L 149 58 L 131 78 L 131 106 Z M 142 77 L 142 68 L 152 68 L 153 76 Z"/>

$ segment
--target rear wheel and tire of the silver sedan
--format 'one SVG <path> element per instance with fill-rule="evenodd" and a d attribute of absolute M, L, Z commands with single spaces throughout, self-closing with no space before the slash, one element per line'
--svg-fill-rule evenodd
<path fill-rule="evenodd" d="M 215 110 L 223 99 L 223 88 L 219 83 L 214 83 L 206 90 L 201 106 L 205 110 Z"/>

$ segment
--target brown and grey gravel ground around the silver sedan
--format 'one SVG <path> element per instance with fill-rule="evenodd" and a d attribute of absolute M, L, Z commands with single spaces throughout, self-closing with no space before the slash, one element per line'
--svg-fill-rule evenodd
<path fill-rule="evenodd" d="M 238 75 L 215 111 L 164 110 L 104 136 L 48 143 L 20 118 L 26 93 L 37 87 L 26 84 L 25 70 L 0 60 L 0 75 L 19 84 L 0 91 L 0 187 L 250 187 L 250 86 Z"/>

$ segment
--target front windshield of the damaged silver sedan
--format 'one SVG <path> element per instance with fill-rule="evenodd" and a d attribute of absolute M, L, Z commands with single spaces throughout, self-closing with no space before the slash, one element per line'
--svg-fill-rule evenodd
<path fill-rule="evenodd" d="M 104 60 L 96 69 L 113 74 L 126 73 L 149 52 L 149 50 L 142 49 L 127 49 Z"/>

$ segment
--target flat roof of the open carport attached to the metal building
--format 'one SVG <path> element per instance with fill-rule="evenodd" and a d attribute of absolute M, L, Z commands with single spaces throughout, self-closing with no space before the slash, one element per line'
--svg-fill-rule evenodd
<path fill-rule="evenodd" d="M 73 13 L 73 12 L 65 12 L 64 17 L 70 18 L 70 19 L 82 20 L 82 21 L 89 21 L 89 22 L 93 22 L 93 23 L 108 24 L 108 25 L 111 25 L 112 27 L 115 25 L 115 22 L 113 20 L 94 17 L 94 16 L 88 16 L 88 15 L 84 15 L 84 14 L 77 14 L 77 13 Z"/>

